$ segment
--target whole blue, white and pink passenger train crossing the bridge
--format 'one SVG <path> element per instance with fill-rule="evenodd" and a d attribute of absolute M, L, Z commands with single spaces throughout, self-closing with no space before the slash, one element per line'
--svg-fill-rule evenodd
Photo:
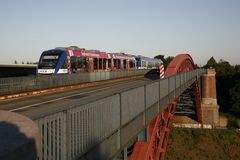
<path fill-rule="evenodd" d="M 106 53 L 77 46 L 57 47 L 44 51 L 39 59 L 37 74 L 75 74 L 116 70 L 159 68 L 161 60 L 125 53 Z"/>

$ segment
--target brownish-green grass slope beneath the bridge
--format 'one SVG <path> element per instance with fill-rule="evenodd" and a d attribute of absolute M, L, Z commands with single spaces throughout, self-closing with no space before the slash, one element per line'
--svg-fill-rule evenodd
<path fill-rule="evenodd" d="M 173 128 L 167 160 L 240 160 L 240 132 Z"/>

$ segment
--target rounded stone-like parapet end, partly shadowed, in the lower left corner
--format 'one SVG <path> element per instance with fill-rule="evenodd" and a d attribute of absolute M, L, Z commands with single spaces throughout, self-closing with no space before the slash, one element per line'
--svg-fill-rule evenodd
<path fill-rule="evenodd" d="M 27 117 L 0 111 L 0 159 L 37 159 L 40 133 L 37 125 Z"/>

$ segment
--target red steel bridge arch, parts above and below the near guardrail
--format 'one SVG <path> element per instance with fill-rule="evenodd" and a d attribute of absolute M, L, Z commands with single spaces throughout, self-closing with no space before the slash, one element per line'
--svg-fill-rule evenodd
<path fill-rule="evenodd" d="M 177 55 L 167 66 L 165 77 L 170 77 L 178 73 L 188 72 L 194 69 L 194 62 L 189 54 Z M 198 82 L 194 82 L 194 92 L 196 97 L 196 107 L 198 121 L 201 122 L 200 96 L 198 92 Z M 173 116 L 176 109 L 174 100 L 149 124 L 149 142 L 137 142 L 134 146 L 131 160 L 164 160 L 167 151 L 168 137 L 173 123 Z"/>

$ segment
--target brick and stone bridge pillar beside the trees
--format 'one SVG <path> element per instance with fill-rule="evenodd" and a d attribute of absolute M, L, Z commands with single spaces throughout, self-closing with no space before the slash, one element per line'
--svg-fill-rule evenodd
<path fill-rule="evenodd" d="M 202 76 L 202 120 L 203 124 L 212 127 L 219 126 L 219 106 L 216 93 L 215 69 L 207 69 L 207 74 Z"/>

